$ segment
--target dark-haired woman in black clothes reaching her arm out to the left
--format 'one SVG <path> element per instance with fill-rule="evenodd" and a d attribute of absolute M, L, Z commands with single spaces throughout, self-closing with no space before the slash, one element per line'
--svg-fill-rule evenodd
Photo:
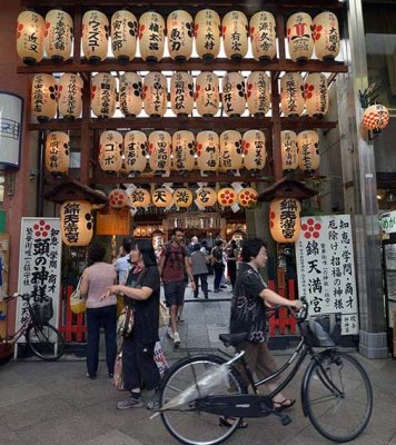
<path fill-rule="evenodd" d="M 110 286 L 102 299 L 112 294 L 122 293 L 132 301 L 133 328 L 122 344 L 123 387 L 130 396 L 117 403 L 118 409 L 143 406 L 141 383 L 148 390 L 154 389 L 152 397 L 146 404 L 148 409 L 159 405 L 160 375 L 154 359 L 155 345 L 159 340 L 159 294 L 160 277 L 152 244 L 148 239 L 136 243 L 130 251 L 132 268 L 126 285 Z M 136 286 L 136 287 L 135 287 Z"/>

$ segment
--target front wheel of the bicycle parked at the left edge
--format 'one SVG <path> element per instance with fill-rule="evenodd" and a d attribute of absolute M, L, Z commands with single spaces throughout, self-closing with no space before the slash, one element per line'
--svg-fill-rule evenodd
<path fill-rule="evenodd" d="M 55 362 L 63 354 L 63 337 L 59 330 L 47 323 L 30 325 L 27 330 L 27 342 L 31 352 L 47 362 Z"/>

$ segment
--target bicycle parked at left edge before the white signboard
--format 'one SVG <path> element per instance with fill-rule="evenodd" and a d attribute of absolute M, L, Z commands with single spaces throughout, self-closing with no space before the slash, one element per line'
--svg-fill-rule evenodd
<path fill-rule="evenodd" d="M 16 298 L 22 298 L 27 303 L 27 317 L 23 318 L 19 329 L 3 338 L 0 335 L 0 345 L 6 354 L 11 358 L 14 344 L 26 336 L 30 350 L 39 358 L 47 362 L 55 362 L 63 354 L 65 343 L 59 330 L 48 323 L 52 318 L 52 299 L 48 299 L 43 304 L 30 303 L 29 294 L 13 294 L 6 297 L 3 301 L 9 304 Z"/>

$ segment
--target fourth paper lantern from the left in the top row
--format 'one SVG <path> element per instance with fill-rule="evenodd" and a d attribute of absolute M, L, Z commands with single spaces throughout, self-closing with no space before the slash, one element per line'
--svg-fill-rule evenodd
<path fill-rule="evenodd" d="M 111 51 L 120 62 L 129 62 L 136 53 L 138 20 L 132 12 L 121 9 L 111 16 Z"/>

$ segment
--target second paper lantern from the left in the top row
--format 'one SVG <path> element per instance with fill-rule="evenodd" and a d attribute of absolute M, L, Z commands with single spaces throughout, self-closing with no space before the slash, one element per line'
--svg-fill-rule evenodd
<path fill-rule="evenodd" d="M 71 55 L 73 20 L 60 9 L 51 9 L 46 16 L 44 49 L 55 62 L 68 60 Z"/>

